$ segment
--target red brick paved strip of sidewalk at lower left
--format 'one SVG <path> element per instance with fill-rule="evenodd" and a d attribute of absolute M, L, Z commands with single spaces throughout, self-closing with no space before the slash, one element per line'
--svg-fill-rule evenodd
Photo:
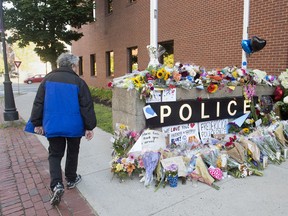
<path fill-rule="evenodd" d="M 4 122 L 0 104 L 0 215 L 96 215 L 76 188 L 65 190 L 58 207 L 50 205 L 48 154 L 23 124 Z"/>

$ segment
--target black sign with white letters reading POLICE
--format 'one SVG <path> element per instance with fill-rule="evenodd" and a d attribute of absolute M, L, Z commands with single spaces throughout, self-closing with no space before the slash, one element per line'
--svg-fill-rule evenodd
<path fill-rule="evenodd" d="M 182 100 L 149 105 L 157 116 L 146 119 L 147 128 L 237 118 L 250 111 L 250 102 L 244 97 Z"/>

